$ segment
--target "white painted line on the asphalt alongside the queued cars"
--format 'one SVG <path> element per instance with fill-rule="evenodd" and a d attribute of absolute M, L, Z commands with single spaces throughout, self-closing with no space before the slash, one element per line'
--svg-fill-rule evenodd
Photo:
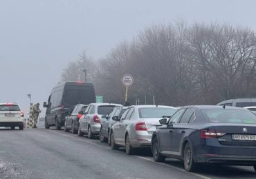
<path fill-rule="evenodd" d="M 48 130 L 48 131 L 53 132 L 53 133 L 55 133 L 55 134 L 60 134 L 61 136 L 67 136 L 67 137 L 69 137 L 69 138 L 75 138 L 75 140 L 79 140 L 79 141 L 84 142 L 84 143 L 89 143 L 89 144 L 92 144 L 92 145 L 95 145 L 95 146 L 98 146 L 98 147 L 101 147 L 101 148 L 104 148 L 104 149 L 110 149 L 109 147 L 104 147 L 104 146 L 102 146 L 102 145 L 98 145 L 97 143 L 89 142 L 89 141 L 86 140 L 86 139 L 82 139 L 82 138 L 80 139 L 80 138 L 77 138 L 77 137 L 70 136 L 70 135 L 68 135 L 68 134 L 62 134 L 62 133 L 57 132 L 57 131 L 52 131 L 52 130 Z M 150 161 L 150 162 L 154 162 L 154 160 L 152 160 L 152 159 L 150 159 L 150 158 L 145 158 L 145 157 L 143 157 L 143 156 L 134 156 L 134 157 L 140 158 L 140 159 L 143 159 L 143 160 L 147 160 L 147 161 Z M 165 166 L 165 167 L 170 167 L 170 168 L 172 168 L 172 169 L 176 169 L 176 170 L 179 170 L 179 171 L 183 171 L 183 172 L 185 172 L 185 173 L 192 174 L 192 175 L 197 176 L 197 177 L 199 177 L 199 178 L 211 179 L 210 177 L 203 176 L 203 175 L 198 174 L 198 173 L 188 172 L 188 171 L 185 171 L 184 169 L 181 169 L 181 168 L 179 168 L 179 167 L 174 167 L 174 166 L 172 166 L 172 165 L 167 165 L 167 164 L 165 164 L 165 163 L 161 163 L 161 162 L 154 162 L 154 163 L 155 163 L 155 164 L 158 164 L 158 165 L 163 165 L 163 166 Z"/>

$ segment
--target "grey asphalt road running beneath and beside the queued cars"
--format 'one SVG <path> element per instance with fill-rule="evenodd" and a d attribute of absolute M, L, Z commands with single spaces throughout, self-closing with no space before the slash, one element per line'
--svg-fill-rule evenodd
<path fill-rule="evenodd" d="M 154 162 L 149 151 L 127 156 L 99 140 L 55 129 L 0 129 L 0 178 L 256 178 L 253 167 Z"/>

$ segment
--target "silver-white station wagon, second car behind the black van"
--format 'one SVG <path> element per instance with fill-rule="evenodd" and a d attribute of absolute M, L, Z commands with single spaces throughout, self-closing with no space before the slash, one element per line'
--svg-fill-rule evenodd
<path fill-rule="evenodd" d="M 113 103 L 91 103 L 86 108 L 84 115 L 79 120 L 78 136 L 88 134 L 88 138 L 93 138 L 100 134 L 100 120 L 106 118 L 113 107 L 122 106 Z"/>

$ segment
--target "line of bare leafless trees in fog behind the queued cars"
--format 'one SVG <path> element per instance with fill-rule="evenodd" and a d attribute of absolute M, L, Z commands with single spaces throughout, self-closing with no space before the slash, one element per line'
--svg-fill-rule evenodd
<path fill-rule="evenodd" d="M 128 101 L 135 104 L 210 105 L 256 94 L 256 36 L 249 28 L 219 23 L 152 25 L 103 59 L 85 53 L 69 63 L 62 81 L 84 78 L 104 101 L 124 103 L 123 74 L 134 76 Z"/>

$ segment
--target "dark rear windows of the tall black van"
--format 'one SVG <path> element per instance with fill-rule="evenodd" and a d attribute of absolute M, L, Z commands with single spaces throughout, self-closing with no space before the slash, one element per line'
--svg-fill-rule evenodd
<path fill-rule="evenodd" d="M 64 103 L 68 103 L 69 105 L 76 105 L 77 103 L 86 105 L 94 102 L 95 93 L 91 87 L 66 87 L 64 93 Z"/>

